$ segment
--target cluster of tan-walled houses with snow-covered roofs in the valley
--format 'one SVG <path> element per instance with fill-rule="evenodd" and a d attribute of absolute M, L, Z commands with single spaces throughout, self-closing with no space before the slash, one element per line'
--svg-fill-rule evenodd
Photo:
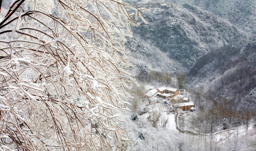
<path fill-rule="evenodd" d="M 179 108 L 182 111 L 193 111 L 194 102 L 190 102 L 189 98 L 184 96 L 185 90 L 179 90 L 169 87 L 161 87 L 158 89 L 149 89 L 143 96 L 149 99 L 152 103 L 162 103 L 169 105 L 175 109 Z"/>

